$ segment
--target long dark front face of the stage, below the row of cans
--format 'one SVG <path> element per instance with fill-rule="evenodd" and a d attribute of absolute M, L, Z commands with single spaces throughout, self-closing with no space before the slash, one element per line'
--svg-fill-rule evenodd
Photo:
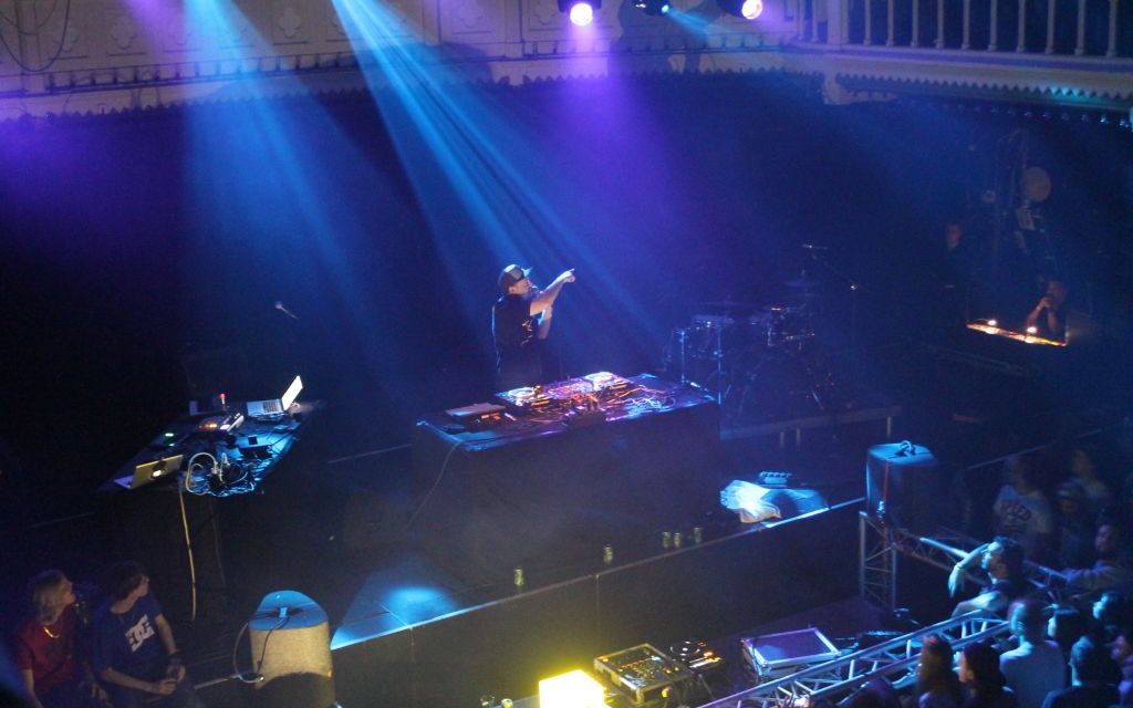
<path fill-rule="evenodd" d="M 857 591 L 860 502 L 437 620 L 333 654 L 344 706 L 475 705 L 594 657 L 743 631 Z"/>

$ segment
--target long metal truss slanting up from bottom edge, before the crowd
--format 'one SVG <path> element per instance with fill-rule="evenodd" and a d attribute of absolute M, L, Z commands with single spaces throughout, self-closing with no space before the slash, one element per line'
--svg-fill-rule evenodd
<path fill-rule="evenodd" d="M 818 698 L 834 699 L 877 679 L 900 679 L 910 675 L 920 656 L 922 639 L 939 634 L 953 649 L 1006 636 L 1010 624 L 999 617 L 981 617 L 972 612 L 903 637 L 847 654 L 846 656 L 804 668 L 776 681 L 761 683 L 727 698 L 705 703 L 701 708 L 770 708 L 806 706 Z"/>

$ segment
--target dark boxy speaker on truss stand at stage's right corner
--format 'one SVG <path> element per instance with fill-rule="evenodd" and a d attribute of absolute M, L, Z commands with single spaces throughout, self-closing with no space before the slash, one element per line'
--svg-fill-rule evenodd
<path fill-rule="evenodd" d="M 915 534 L 935 534 L 945 493 L 937 468 L 923 445 L 874 445 L 866 462 L 867 513 Z"/>

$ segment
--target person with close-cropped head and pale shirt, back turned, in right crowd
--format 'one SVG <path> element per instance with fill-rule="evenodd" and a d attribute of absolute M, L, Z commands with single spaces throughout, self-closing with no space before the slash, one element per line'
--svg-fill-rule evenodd
<path fill-rule="evenodd" d="M 1041 708 L 1047 693 L 1066 688 L 1062 649 L 1047 639 L 1045 608 L 1033 598 L 1011 608 L 1011 632 L 1020 645 L 999 657 L 999 669 L 1015 692 L 1020 708 Z"/>

